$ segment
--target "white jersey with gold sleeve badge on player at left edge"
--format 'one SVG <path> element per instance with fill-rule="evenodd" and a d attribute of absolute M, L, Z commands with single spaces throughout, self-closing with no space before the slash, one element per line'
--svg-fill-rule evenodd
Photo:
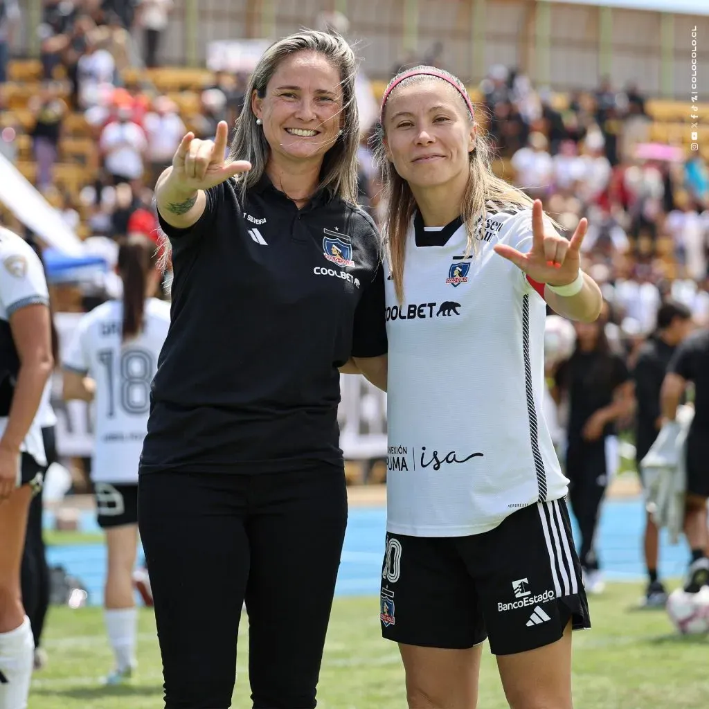
<path fill-rule="evenodd" d="M 10 318 L 25 306 L 49 303 L 47 279 L 42 262 L 27 242 L 7 229 L 0 228 L 0 337 L 12 339 Z M 3 350 L 5 348 L 3 347 Z M 0 436 L 7 418 L 0 417 Z M 30 426 L 21 450 L 28 452 L 40 465 L 45 465 L 42 430 L 35 421 Z"/>

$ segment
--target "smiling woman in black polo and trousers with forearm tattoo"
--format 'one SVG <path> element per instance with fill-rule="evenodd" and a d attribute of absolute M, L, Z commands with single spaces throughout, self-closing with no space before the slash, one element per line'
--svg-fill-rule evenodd
<path fill-rule="evenodd" d="M 354 77 L 342 38 L 280 40 L 233 162 L 220 123 L 215 143 L 188 133 L 157 184 L 172 323 L 139 523 L 169 709 L 230 705 L 244 598 L 254 707 L 316 705 L 347 520 L 338 367 L 386 352 L 379 240 L 354 206 Z"/>

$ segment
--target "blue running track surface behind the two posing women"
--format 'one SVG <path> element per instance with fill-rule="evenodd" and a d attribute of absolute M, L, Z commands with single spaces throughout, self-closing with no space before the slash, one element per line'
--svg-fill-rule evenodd
<path fill-rule="evenodd" d="M 644 577 L 641 555 L 643 515 L 640 499 L 605 503 L 598 549 L 607 579 L 634 581 Z M 367 596 L 379 593 L 385 519 L 384 507 L 350 509 L 337 595 Z M 52 515 L 46 515 L 45 524 L 51 527 L 53 523 Z M 99 531 L 92 513 L 84 513 L 81 529 L 84 532 Z M 50 547 L 48 559 L 50 564 L 62 564 L 69 574 L 82 580 L 89 591 L 90 603 L 101 603 L 106 568 L 104 545 Z M 683 541 L 671 547 L 664 540 L 661 546 L 661 576 L 681 576 L 687 561 L 688 552 Z"/>

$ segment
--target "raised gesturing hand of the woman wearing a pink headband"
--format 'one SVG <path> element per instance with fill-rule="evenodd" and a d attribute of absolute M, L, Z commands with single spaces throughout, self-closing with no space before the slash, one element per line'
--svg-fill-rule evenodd
<path fill-rule="evenodd" d="M 579 275 L 581 244 L 587 228 L 588 220 L 581 219 L 570 241 L 553 231 L 545 234 L 542 202 L 537 199 L 532 206 L 532 249 L 523 254 L 506 244 L 497 244 L 495 251 L 537 283 L 566 286 Z"/>

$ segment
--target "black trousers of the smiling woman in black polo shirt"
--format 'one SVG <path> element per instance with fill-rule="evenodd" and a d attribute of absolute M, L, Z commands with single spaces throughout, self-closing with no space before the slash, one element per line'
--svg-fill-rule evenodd
<path fill-rule="evenodd" d="M 341 467 L 140 476 L 166 709 L 226 709 L 245 600 L 255 709 L 313 709 L 347 525 Z"/>

